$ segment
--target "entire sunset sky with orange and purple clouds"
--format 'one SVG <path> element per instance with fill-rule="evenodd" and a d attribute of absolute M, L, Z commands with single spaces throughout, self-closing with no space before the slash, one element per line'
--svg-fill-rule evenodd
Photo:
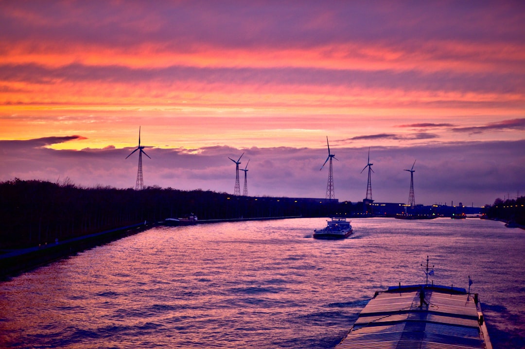
<path fill-rule="evenodd" d="M 0 180 L 481 206 L 525 194 L 520 1 L 0 0 Z M 243 188 L 244 172 L 240 173 Z"/>

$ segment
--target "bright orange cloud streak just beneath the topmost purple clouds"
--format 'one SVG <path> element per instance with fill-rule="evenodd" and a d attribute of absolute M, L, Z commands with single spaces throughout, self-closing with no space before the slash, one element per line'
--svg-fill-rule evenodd
<path fill-rule="evenodd" d="M 409 43 L 393 47 L 388 43 L 348 42 L 308 48 L 224 48 L 195 45 L 191 51 L 166 47 L 163 43 L 138 43 L 109 47 L 97 43 L 17 42 L 5 44 L 0 64 L 38 63 L 61 67 L 73 63 L 88 66 L 118 65 L 130 68 L 310 68 L 364 71 L 423 72 L 457 71 L 499 73 L 525 72 L 525 47 L 507 43 L 443 41 Z"/>

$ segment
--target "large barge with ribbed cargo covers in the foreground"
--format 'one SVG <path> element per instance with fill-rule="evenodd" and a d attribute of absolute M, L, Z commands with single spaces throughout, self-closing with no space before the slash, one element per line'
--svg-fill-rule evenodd
<path fill-rule="evenodd" d="M 453 286 L 392 286 L 376 291 L 335 346 L 350 348 L 492 349 L 478 294 Z"/>

